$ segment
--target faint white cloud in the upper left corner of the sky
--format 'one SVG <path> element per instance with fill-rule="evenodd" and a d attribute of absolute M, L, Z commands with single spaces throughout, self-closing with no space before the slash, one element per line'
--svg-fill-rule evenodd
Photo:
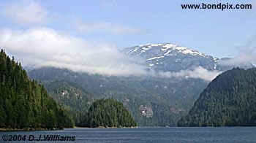
<path fill-rule="evenodd" d="M 45 23 L 48 12 L 39 1 L 19 1 L 5 4 L 1 14 L 20 24 Z"/>

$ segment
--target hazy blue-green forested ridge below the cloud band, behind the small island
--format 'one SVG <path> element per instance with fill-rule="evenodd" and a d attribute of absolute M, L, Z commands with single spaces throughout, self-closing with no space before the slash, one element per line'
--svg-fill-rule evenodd
<path fill-rule="evenodd" d="M 176 126 L 180 117 L 189 111 L 207 85 L 207 82 L 199 79 L 105 77 L 53 67 L 34 69 L 29 72 L 29 76 L 41 81 L 53 98 L 55 96 L 48 87 L 62 81 L 79 85 L 79 90 L 92 93 L 94 98 L 115 98 L 129 109 L 140 126 Z M 55 99 L 59 103 L 62 102 L 61 98 Z M 67 106 L 74 108 L 85 106 L 78 105 L 82 102 L 74 103 L 76 104 Z M 151 107 L 153 116 L 143 116 L 140 112 L 141 105 Z"/>

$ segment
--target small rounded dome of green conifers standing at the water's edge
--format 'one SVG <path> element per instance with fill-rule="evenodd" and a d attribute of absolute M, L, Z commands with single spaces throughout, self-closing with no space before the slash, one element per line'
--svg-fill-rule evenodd
<path fill-rule="evenodd" d="M 87 123 L 89 127 L 136 126 L 135 120 L 124 105 L 121 102 L 113 100 L 113 98 L 95 101 L 89 109 Z"/>

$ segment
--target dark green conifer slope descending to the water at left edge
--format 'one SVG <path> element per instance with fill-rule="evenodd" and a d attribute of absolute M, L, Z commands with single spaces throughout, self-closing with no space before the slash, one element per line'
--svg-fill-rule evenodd
<path fill-rule="evenodd" d="M 0 128 L 70 128 L 72 118 L 29 80 L 20 63 L 0 53 Z"/>

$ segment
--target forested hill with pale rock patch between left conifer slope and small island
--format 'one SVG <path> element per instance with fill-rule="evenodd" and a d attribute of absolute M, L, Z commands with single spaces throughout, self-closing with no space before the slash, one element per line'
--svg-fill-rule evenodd
<path fill-rule="evenodd" d="M 91 94 L 75 82 L 61 80 L 46 82 L 44 85 L 49 95 L 69 111 L 75 120 L 75 125 L 84 126 L 89 107 L 94 100 Z"/>

